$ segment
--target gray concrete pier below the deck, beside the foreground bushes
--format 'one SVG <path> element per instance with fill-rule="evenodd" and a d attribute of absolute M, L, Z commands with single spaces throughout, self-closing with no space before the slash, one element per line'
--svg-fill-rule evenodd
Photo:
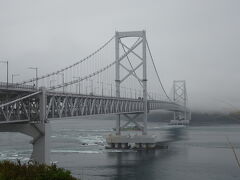
<path fill-rule="evenodd" d="M 0 132 L 18 132 L 31 136 L 33 151 L 30 159 L 39 163 L 50 163 L 50 123 L 1 124 Z"/>

